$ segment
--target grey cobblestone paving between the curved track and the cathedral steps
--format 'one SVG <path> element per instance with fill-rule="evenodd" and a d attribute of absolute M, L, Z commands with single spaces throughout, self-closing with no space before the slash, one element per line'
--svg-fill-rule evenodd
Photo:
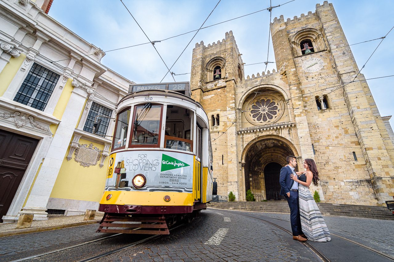
<path fill-rule="evenodd" d="M 248 213 L 248 212 L 245 212 Z M 249 212 L 290 221 L 290 214 Z M 394 221 L 323 216 L 329 231 L 394 257 Z"/>

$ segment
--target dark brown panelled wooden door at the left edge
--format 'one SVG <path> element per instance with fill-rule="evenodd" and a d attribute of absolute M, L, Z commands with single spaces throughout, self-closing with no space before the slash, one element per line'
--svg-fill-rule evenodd
<path fill-rule="evenodd" d="M 32 159 L 37 139 L 0 129 L 0 221 L 18 190 Z"/>

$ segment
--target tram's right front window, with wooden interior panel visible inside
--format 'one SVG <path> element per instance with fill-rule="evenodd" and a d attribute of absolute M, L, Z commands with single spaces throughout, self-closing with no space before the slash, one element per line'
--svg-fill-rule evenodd
<path fill-rule="evenodd" d="M 192 112 L 184 107 L 167 105 L 165 120 L 165 148 L 192 151 Z"/>

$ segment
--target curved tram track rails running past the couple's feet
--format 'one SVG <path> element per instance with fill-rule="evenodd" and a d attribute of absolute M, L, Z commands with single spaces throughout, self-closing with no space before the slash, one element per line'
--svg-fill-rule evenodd
<path fill-rule="evenodd" d="M 221 209 L 221 210 L 225 211 L 225 209 Z M 229 211 L 229 210 L 226 210 L 226 211 Z M 234 210 L 234 211 L 235 211 L 235 210 Z M 275 224 L 275 223 L 272 223 L 271 221 L 264 220 L 264 219 L 262 219 L 262 218 L 260 218 L 260 217 L 269 218 L 269 219 L 274 219 L 274 220 L 281 220 L 281 221 L 286 221 L 286 222 L 289 222 L 289 223 L 290 223 L 290 221 L 288 221 L 288 220 L 284 220 L 284 219 L 280 219 L 280 218 L 271 218 L 271 217 L 268 217 L 268 216 L 261 216 L 261 215 L 258 215 L 258 216 L 251 216 L 251 215 L 247 215 L 247 214 L 242 214 L 241 212 L 230 212 L 230 213 L 235 213 L 235 214 L 239 214 L 239 215 L 242 215 L 242 216 L 248 216 L 248 217 L 251 217 L 251 218 L 256 218 L 256 219 L 265 221 L 265 222 L 267 222 L 267 223 L 269 223 L 269 224 L 271 224 L 271 225 L 273 225 L 273 226 L 275 226 L 275 227 L 277 227 L 277 228 L 279 228 L 279 229 L 281 229 L 281 230 L 287 232 L 288 234 L 293 235 L 292 232 L 290 232 L 290 231 L 288 231 L 287 229 L 281 227 L 280 225 L 277 225 L 277 224 Z M 381 252 L 381 251 L 379 251 L 379 250 L 376 250 L 376 249 L 374 249 L 374 248 L 372 248 L 372 247 L 368 247 L 368 246 L 363 245 L 363 244 L 361 244 L 361 243 L 359 243 L 359 242 L 356 242 L 356 241 L 354 241 L 354 240 L 345 238 L 345 237 L 343 237 L 343 236 L 339 236 L 339 235 L 337 235 L 337 234 L 333 234 L 333 233 L 330 233 L 330 234 L 331 234 L 332 236 L 336 236 L 336 237 L 338 237 L 338 238 L 341 238 L 341 239 L 343 239 L 343 240 L 346 240 L 346 241 L 348 241 L 348 242 L 350 242 L 350 243 L 352 243 L 352 244 L 355 244 L 355 245 L 358 245 L 358 246 L 360 246 L 360 247 L 363 247 L 363 248 L 365 248 L 365 249 L 367 249 L 367 250 L 369 250 L 369 251 L 372 251 L 372 252 L 374 252 L 374 253 L 377 253 L 377 254 L 379 254 L 379 255 L 385 257 L 385 258 L 388 258 L 388 259 L 394 261 L 394 258 L 393 258 L 392 256 L 387 255 L 387 254 L 385 254 L 385 253 L 383 253 L 383 252 Z M 325 257 L 320 251 L 318 251 L 316 248 L 312 247 L 312 245 L 310 245 L 308 242 L 301 242 L 301 244 L 306 245 L 307 247 L 309 247 L 316 255 L 319 254 L 318 256 L 320 256 L 320 258 L 321 258 L 323 261 L 325 261 L 325 262 L 331 262 L 331 261 L 330 261 L 327 257 Z"/>

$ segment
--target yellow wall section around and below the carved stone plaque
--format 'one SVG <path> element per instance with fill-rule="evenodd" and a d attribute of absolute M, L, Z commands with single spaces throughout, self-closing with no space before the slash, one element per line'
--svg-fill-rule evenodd
<path fill-rule="evenodd" d="M 81 138 L 79 143 L 89 145 L 91 142 Z M 104 149 L 104 145 L 93 145 L 100 150 Z M 74 154 L 72 159 L 67 161 L 69 150 L 70 148 L 63 159 L 50 197 L 99 202 L 104 192 L 109 157 L 104 161 L 102 168 L 99 167 L 100 160 L 96 166 L 83 167 L 74 160 Z"/>

